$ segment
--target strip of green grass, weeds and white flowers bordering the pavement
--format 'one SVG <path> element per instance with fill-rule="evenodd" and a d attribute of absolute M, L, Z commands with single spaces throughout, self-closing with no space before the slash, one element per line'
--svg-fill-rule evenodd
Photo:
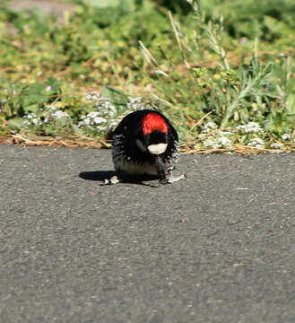
<path fill-rule="evenodd" d="M 0 4 L 3 137 L 108 146 L 152 108 L 195 152 L 295 148 L 293 1 L 74 3 L 63 22 Z"/>

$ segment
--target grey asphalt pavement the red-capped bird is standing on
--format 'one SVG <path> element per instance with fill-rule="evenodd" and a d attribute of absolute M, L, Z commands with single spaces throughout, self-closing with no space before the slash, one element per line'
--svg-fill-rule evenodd
<path fill-rule="evenodd" d="M 1 323 L 295 322 L 295 154 L 182 155 L 160 188 L 112 170 L 0 145 Z"/>

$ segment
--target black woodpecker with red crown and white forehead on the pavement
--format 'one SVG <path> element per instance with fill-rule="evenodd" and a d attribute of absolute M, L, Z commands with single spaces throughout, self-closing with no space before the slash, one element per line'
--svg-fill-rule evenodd
<path fill-rule="evenodd" d="M 143 109 L 127 115 L 115 129 L 112 145 L 118 180 L 159 179 L 167 184 L 185 178 L 172 177 L 178 161 L 178 133 L 160 112 Z M 110 179 L 108 184 L 116 182 Z"/>

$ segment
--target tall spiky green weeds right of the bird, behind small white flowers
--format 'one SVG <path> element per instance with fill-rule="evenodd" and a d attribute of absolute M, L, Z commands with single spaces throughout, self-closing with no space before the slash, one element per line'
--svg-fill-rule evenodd
<path fill-rule="evenodd" d="M 275 139 L 292 133 L 295 117 L 295 70 L 291 57 L 278 55 L 273 62 L 263 63 L 257 58 L 256 40 L 251 50 L 252 58 L 249 60 L 241 57 L 239 65 L 235 67 L 230 64 L 222 46 L 223 43 L 228 46 L 228 36 L 224 32 L 222 20 L 216 23 L 206 22 L 205 15 L 196 4 L 194 12 L 193 32 L 184 31 L 170 16 L 179 49 L 177 62 L 172 61 L 166 53 L 164 57 L 157 55 L 155 51 L 149 51 L 142 44 L 143 55 L 153 66 L 153 73 L 149 75 L 159 93 L 158 98 L 168 102 L 169 107 L 178 107 L 178 124 L 182 137 L 193 138 L 197 135 L 195 130 L 202 131 L 202 127 L 195 127 L 190 120 L 196 120 L 195 125 L 198 125 L 197 120 L 202 120 L 204 116 L 221 129 L 234 129 L 239 125 L 256 122 L 265 127 Z M 207 57 L 216 57 L 218 65 L 209 67 L 204 61 L 204 52 Z M 187 73 L 177 72 L 181 69 L 180 64 Z M 279 65 L 284 65 L 284 73 Z M 278 70 L 282 73 L 279 77 Z M 289 77 L 285 74 L 286 71 Z M 235 132 L 235 135 L 239 135 L 239 132 Z"/>

